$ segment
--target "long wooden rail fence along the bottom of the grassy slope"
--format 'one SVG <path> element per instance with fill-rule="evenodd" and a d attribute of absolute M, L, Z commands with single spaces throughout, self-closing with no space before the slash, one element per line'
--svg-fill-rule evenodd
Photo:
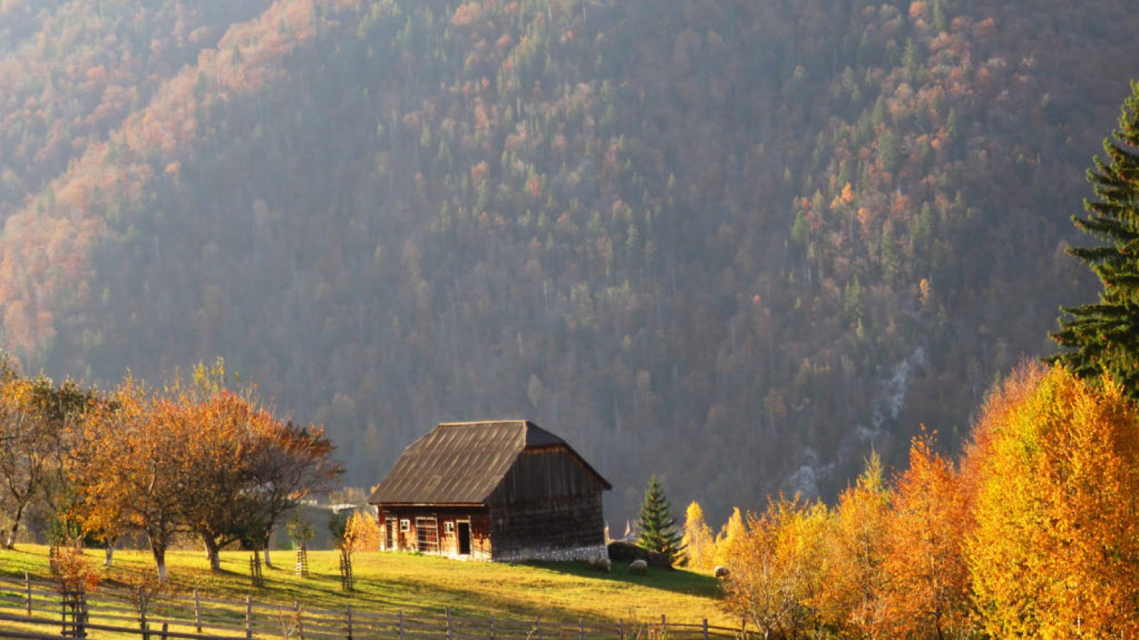
<path fill-rule="evenodd" d="M 304 607 L 294 602 L 271 605 L 246 600 L 219 600 L 192 596 L 164 596 L 139 615 L 125 591 L 99 589 L 85 597 L 82 610 L 73 610 L 54 583 L 0 577 L 0 638 L 104 638 L 214 640 L 221 638 L 440 638 L 446 640 L 498 638 L 738 638 L 739 629 L 659 621 L 544 621 L 541 617 L 495 618 L 457 616 L 448 608 L 436 615 L 402 610 L 362 612 L 351 605 L 342 610 Z"/>

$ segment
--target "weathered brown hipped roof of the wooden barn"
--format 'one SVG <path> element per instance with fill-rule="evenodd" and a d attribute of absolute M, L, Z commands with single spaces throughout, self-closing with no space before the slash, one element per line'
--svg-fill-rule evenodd
<path fill-rule="evenodd" d="M 403 450 L 368 502 L 483 504 L 519 453 L 547 448 L 564 448 L 613 487 L 564 440 L 528 420 L 444 422 Z"/>

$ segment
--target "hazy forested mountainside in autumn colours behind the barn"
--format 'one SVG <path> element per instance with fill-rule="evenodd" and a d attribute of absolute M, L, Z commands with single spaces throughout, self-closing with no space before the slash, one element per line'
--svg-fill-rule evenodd
<path fill-rule="evenodd" d="M 526 417 L 632 516 L 834 495 L 1093 296 L 1124 0 L 0 2 L 2 342 L 227 359 L 354 484 Z"/>

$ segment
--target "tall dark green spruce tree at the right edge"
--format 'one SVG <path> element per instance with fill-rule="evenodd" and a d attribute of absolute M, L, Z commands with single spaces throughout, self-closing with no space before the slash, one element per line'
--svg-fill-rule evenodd
<path fill-rule="evenodd" d="M 1070 248 L 1103 282 L 1099 302 L 1064 309 L 1051 334 L 1059 362 L 1083 378 L 1111 375 L 1139 399 L 1139 82 L 1123 104 L 1120 128 L 1104 140 L 1106 161 L 1088 171 L 1096 197 L 1084 200 L 1087 218 L 1075 225 L 1101 246 Z"/>

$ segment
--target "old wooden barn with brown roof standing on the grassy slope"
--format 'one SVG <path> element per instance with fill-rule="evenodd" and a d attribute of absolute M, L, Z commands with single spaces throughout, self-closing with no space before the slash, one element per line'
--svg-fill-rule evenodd
<path fill-rule="evenodd" d="M 494 561 L 605 553 L 613 489 L 564 440 L 526 420 L 442 424 L 376 487 L 382 545 Z"/>

